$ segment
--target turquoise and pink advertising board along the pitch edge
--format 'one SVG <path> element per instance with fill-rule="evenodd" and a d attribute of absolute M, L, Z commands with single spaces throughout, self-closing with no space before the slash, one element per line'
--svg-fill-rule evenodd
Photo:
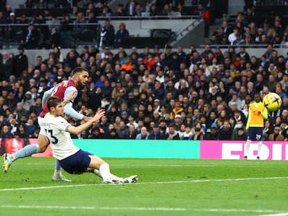
<path fill-rule="evenodd" d="M 77 147 L 102 158 L 182 158 L 223 159 L 243 158 L 246 141 L 213 140 L 73 140 Z M 15 153 L 37 139 L 0 139 L 0 153 Z M 33 156 L 51 157 L 50 147 L 45 153 Z M 255 160 L 257 142 L 250 144 L 248 159 Z M 263 142 L 260 159 L 288 160 L 287 142 Z"/>

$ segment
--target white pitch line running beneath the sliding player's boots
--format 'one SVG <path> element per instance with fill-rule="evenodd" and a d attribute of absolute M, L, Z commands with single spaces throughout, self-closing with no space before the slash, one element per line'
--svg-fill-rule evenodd
<path fill-rule="evenodd" d="M 205 180 L 191 180 L 191 181 L 156 181 L 156 182 L 138 182 L 125 185 L 154 185 L 154 184 L 174 184 L 174 183 L 202 183 L 202 182 L 214 182 L 214 181 L 250 181 L 250 180 L 273 180 L 273 179 L 283 179 L 285 177 L 267 177 L 267 178 L 228 178 L 228 179 L 205 179 Z M 89 186 L 101 186 L 109 184 L 81 184 L 81 185 L 56 185 L 56 186 L 46 186 L 46 187 L 35 187 L 35 188 L 4 188 L 0 189 L 2 191 L 15 191 L 15 190 L 42 190 L 50 188 L 74 188 L 74 187 L 89 187 Z M 116 184 L 113 184 L 115 186 Z M 121 184 L 120 184 L 121 185 Z"/>

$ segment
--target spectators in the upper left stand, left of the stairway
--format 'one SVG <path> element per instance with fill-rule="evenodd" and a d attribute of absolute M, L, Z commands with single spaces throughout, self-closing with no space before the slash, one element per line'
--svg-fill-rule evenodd
<path fill-rule="evenodd" d="M 42 8 L 47 8 L 49 5 L 47 1 L 41 2 Z M 33 3 L 39 4 L 37 1 L 27 1 L 26 8 L 33 8 Z M 61 4 L 61 1 L 58 3 Z M 6 6 L 0 10 L 0 49 L 4 40 L 20 43 L 25 49 L 51 49 L 58 46 L 70 48 L 72 42 L 99 42 L 99 40 L 103 40 L 104 47 L 118 48 L 122 45 L 122 38 L 129 38 L 129 32 L 125 23 L 120 24 L 118 31 L 115 31 L 109 19 L 115 16 L 142 17 L 142 13 L 152 17 L 167 16 L 173 12 L 180 15 L 200 15 L 207 21 L 208 35 L 210 15 L 209 10 L 205 8 L 206 4 L 205 1 L 195 3 L 193 9 L 186 10 L 184 0 L 152 1 L 147 3 L 145 8 L 141 3 L 129 0 L 126 5 L 119 3 L 117 10 L 112 11 L 102 2 L 86 3 L 83 4 L 83 8 L 79 8 L 77 2 L 74 2 L 71 13 L 62 14 L 61 17 L 54 15 L 53 10 L 49 8 L 43 13 L 35 10 L 35 14 L 22 14 L 21 17 L 17 17 L 11 6 Z M 97 17 L 107 19 L 104 26 L 100 26 Z M 104 33 L 103 38 L 100 37 L 101 33 Z"/>

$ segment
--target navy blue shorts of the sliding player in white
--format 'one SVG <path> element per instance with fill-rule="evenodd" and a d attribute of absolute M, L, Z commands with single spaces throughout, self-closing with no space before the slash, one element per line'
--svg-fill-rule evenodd
<path fill-rule="evenodd" d="M 70 174 L 83 174 L 87 172 L 91 158 L 89 156 L 93 155 L 87 151 L 82 151 L 81 149 L 63 160 L 59 160 L 61 167 Z"/>

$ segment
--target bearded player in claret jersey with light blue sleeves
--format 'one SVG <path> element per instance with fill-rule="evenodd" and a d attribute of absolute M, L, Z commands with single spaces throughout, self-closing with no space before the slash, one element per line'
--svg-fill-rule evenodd
<path fill-rule="evenodd" d="M 47 140 L 46 133 L 42 128 L 42 120 L 45 117 L 45 114 L 49 112 L 47 108 L 48 97 L 56 96 L 64 100 L 64 111 L 66 115 L 77 119 L 83 119 L 85 122 L 90 119 L 90 117 L 86 117 L 80 113 L 77 113 L 77 111 L 72 108 L 72 103 L 77 97 L 77 88 L 82 90 L 86 86 L 86 83 L 88 82 L 88 76 L 89 74 L 87 69 L 83 67 L 75 67 L 75 69 L 72 71 L 72 78 L 69 81 L 58 83 L 54 86 L 54 88 L 51 88 L 44 93 L 42 98 L 43 108 L 40 116 L 38 117 L 38 124 L 40 126 L 38 144 L 26 145 L 26 147 L 11 155 L 9 153 L 4 153 L 4 172 L 8 172 L 8 168 L 13 164 L 14 160 L 31 156 L 33 153 L 44 152 L 47 149 L 49 142 Z M 58 160 L 56 160 L 54 175 L 51 179 L 52 181 L 70 181 L 61 174 L 61 166 L 59 165 Z"/>

